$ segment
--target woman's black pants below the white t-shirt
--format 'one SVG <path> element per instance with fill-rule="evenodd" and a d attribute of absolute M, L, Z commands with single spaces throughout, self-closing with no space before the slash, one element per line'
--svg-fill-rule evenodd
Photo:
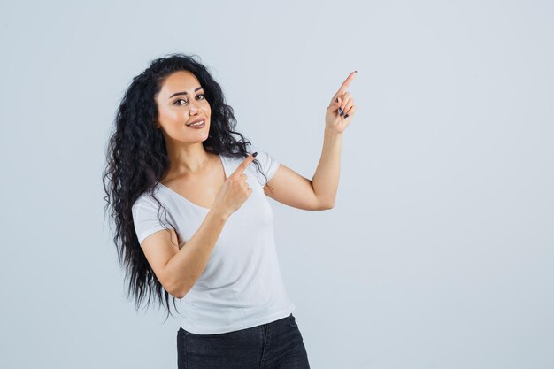
<path fill-rule="evenodd" d="M 295 317 L 223 334 L 177 332 L 179 369 L 309 369 Z"/>

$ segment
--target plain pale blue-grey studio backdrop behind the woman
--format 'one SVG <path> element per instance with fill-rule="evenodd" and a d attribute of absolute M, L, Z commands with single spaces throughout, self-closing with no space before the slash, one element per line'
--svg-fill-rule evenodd
<path fill-rule="evenodd" d="M 552 19 L 548 1 L 2 2 L 0 367 L 176 367 L 179 317 L 126 299 L 101 178 L 124 91 L 173 52 L 308 179 L 358 70 L 335 208 L 269 199 L 313 368 L 554 367 Z"/>

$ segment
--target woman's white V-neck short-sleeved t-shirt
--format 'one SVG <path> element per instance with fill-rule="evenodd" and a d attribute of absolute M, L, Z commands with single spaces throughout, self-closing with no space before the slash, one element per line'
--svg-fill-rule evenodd
<path fill-rule="evenodd" d="M 256 159 L 269 181 L 279 162 L 267 152 Z M 220 155 L 226 178 L 243 159 Z M 227 219 L 204 272 L 181 299 L 181 327 L 194 334 L 220 334 L 256 327 L 285 318 L 296 307 L 289 300 L 281 278 L 273 236 L 273 211 L 264 193 L 265 178 L 254 163 L 244 170 L 252 193 Z M 181 247 L 196 233 L 209 209 L 192 203 L 161 183 L 155 188 L 158 200 L 144 193 L 133 204 L 133 221 L 139 242 L 150 234 L 173 228 Z"/>

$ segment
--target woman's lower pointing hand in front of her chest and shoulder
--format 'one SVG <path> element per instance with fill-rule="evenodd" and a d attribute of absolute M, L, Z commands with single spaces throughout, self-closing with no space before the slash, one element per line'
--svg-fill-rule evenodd
<path fill-rule="evenodd" d="M 231 173 L 227 180 L 223 182 L 213 201 L 212 210 L 219 212 L 226 219 L 237 211 L 252 193 L 252 188 L 249 187 L 246 181 L 248 177 L 242 173 L 252 160 L 254 160 L 254 155 L 250 154 L 242 161 L 235 172 Z"/>

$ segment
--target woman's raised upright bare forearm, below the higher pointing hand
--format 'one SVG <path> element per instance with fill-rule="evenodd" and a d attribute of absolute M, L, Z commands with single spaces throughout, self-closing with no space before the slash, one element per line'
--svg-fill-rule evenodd
<path fill-rule="evenodd" d="M 321 204 L 335 206 L 341 172 L 342 134 L 325 130 L 319 164 L 312 177 L 313 192 Z"/>

